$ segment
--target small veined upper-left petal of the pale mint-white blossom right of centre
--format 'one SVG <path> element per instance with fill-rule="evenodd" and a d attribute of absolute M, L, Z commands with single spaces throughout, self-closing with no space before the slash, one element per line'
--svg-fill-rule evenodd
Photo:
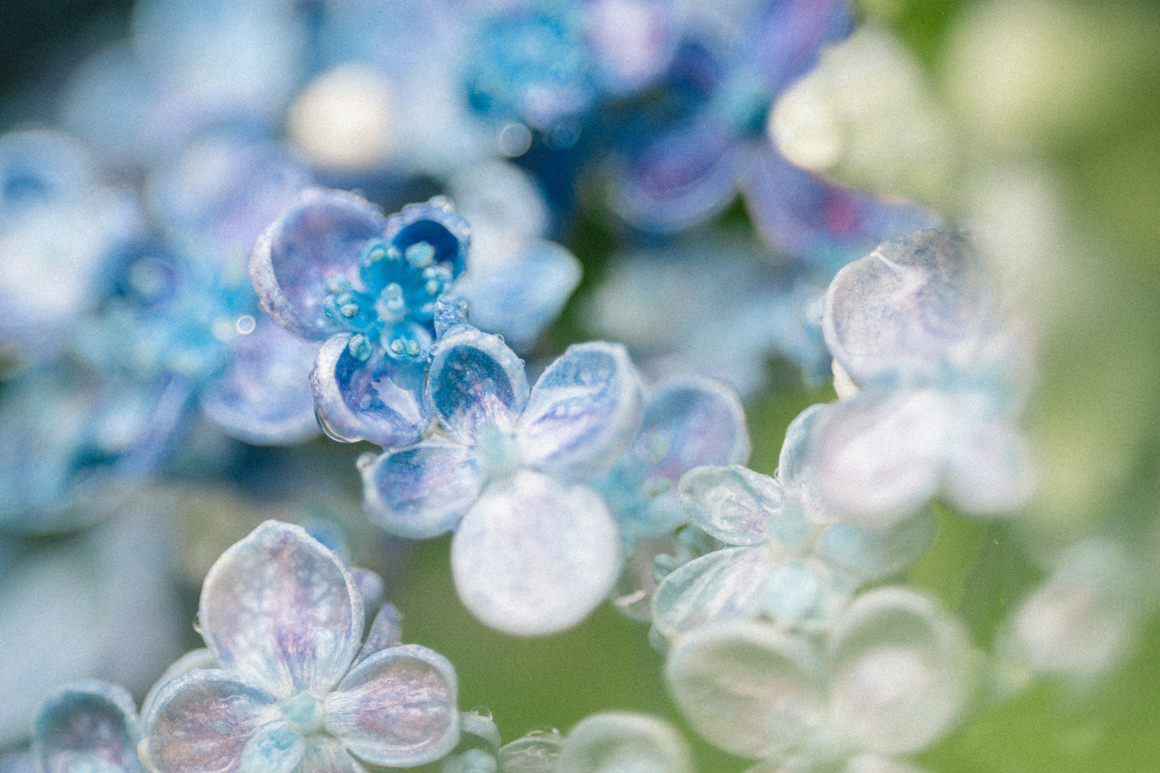
<path fill-rule="evenodd" d="M 770 517 L 785 508 L 781 483 L 740 465 L 689 471 L 677 497 L 693 523 L 726 545 L 764 542 Z"/>

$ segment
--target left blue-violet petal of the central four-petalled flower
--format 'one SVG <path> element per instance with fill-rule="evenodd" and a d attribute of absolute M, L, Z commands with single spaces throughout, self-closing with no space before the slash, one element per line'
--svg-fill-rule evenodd
<path fill-rule="evenodd" d="M 479 498 L 484 476 L 471 449 L 423 440 L 360 465 L 363 503 L 387 533 L 407 539 L 455 528 Z"/>

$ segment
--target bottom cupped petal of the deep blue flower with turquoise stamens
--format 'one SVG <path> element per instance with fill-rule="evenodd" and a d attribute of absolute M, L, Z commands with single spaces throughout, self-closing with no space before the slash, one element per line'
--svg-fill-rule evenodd
<path fill-rule="evenodd" d="M 350 335 L 318 350 L 310 382 L 322 430 L 336 440 L 369 440 L 384 449 L 411 445 L 430 426 L 422 399 L 421 363 L 403 363 L 380 351 L 362 362 L 350 353 Z"/>

